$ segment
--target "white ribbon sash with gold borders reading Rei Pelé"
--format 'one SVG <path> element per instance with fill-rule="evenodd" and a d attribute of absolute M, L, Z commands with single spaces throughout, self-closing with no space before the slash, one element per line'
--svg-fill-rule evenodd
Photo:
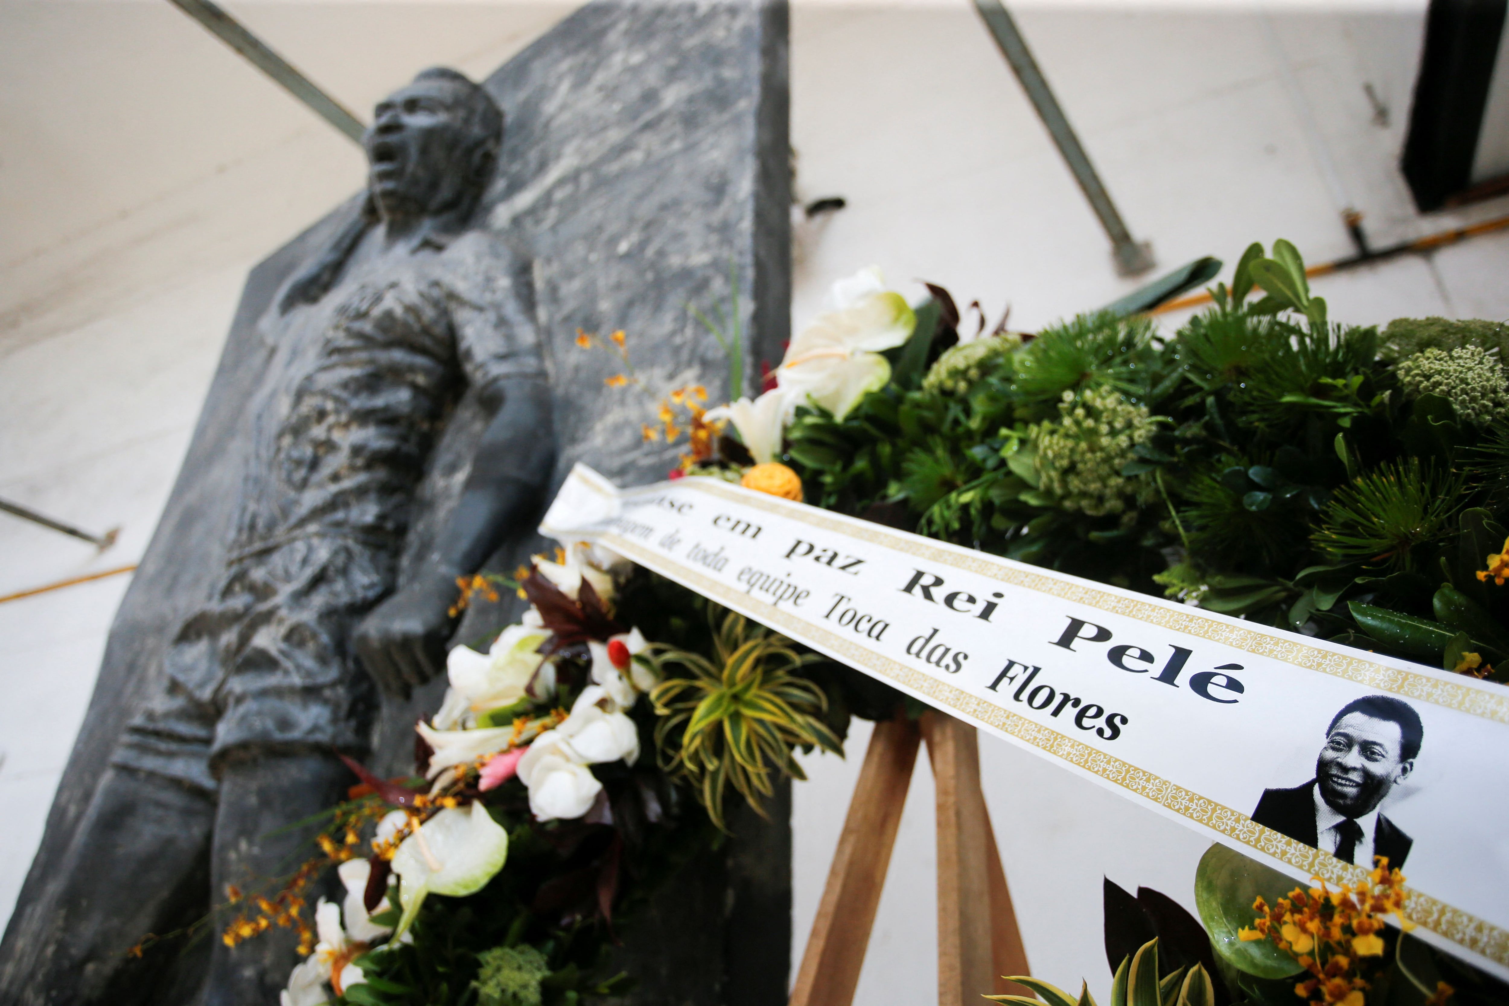
<path fill-rule="evenodd" d="M 1357 882 L 1363 869 L 1287 837 L 1280 822 L 1255 824 L 1259 801 L 1316 778 L 1331 719 L 1349 701 L 1400 698 L 1423 742 L 1381 816 L 1412 839 L 1409 916 L 1426 938 L 1509 976 L 1501 685 L 714 478 L 619 490 L 578 465 L 540 531 L 602 543 L 1299 879 Z"/>

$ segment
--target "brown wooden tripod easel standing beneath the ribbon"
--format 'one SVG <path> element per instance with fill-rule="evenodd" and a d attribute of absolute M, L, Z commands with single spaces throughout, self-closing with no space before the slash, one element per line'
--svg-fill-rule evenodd
<path fill-rule="evenodd" d="M 875 925 L 917 745 L 937 784 L 939 1006 L 982 994 L 1031 995 L 1002 974 L 1029 974 L 990 811 L 975 728 L 940 712 L 875 724 L 789 1006 L 850 1006 Z"/>

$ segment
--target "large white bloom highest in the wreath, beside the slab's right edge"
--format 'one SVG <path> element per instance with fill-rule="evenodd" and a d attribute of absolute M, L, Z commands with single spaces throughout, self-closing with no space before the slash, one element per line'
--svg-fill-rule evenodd
<path fill-rule="evenodd" d="M 905 342 L 917 317 L 874 267 L 834 284 L 830 302 L 834 308 L 791 341 L 776 382 L 789 392 L 789 409 L 812 401 L 842 419 L 890 380 L 890 363 L 880 353 Z"/>

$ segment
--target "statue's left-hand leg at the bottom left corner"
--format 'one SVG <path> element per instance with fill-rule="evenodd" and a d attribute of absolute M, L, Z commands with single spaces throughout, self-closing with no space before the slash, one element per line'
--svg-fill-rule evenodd
<path fill-rule="evenodd" d="M 142 1001 L 166 959 L 130 950 L 204 914 L 214 796 L 181 781 L 112 768 L 62 863 L 51 934 L 18 1001 Z"/>

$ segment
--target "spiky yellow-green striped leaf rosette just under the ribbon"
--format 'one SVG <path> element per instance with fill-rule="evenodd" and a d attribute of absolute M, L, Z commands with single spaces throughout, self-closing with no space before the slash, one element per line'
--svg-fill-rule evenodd
<path fill-rule="evenodd" d="M 806 778 L 795 748 L 842 751 L 822 719 L 827 695 L 800 674 L 819 658 L 742 615 L 714 615 L 711 658 L 653 647 L 649 659 L 664 677 L 650 692 L 661 766 L 696 786 L 720 828 L 730 787 L 764 813 L 779 777 Z"/>

